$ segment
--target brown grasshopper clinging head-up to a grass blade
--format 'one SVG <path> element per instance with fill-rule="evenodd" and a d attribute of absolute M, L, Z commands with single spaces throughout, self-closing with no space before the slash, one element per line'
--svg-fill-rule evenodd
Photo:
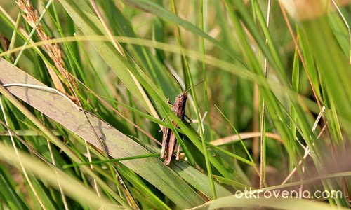
<path fill-rule="evenodd" d="M 200 83 L 202 82 L 204 81 L 201 81 Z M 197 83 L 196 85 L 194 85 L 194 87 L 199 85 L 200 83 Z M 184 120 L 184 117 L 187 117 L 185 115 L 185 104 L 187 102 L 187 92 L 189 92 L 189 90 L 190 89 L 180 93 L 178 97 L 176 97 L 176 101 L 172 106 L 172 111 L 176 113 L 176 116 L 182 121 Z M 188 119 L 190 120 L 190 118 Z M 172 123 L 174 127 L 178 128 L 178 125 L 175 122 L 173 122 L 173 120 L 172 120 Z M 163 132 L 161 158 L 164 159 L 164 165 L 171 165 L 172 156 L 176 149 L 176 144 L 177 144 L 176 134 L 174 134 L 171 128 L 168 128 L 168 127 L 163 127 L 161 131 Z M 180 135 L 180 137 L 182 136 Z M 176 160 L 179 160 L 179 156 L 180 156 L 180 144 L 178 143 Z"/>

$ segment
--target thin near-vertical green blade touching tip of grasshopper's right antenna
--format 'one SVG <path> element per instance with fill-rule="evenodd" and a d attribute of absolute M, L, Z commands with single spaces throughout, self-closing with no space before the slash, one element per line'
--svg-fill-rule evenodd
<path fill-rule="evenodd" d="M 201 30 L 205 33 L 204 30 L 204 0 L 200 1 L 200 25 Z M 210 134 L 209 141 L 213 140 L 213 132 L 212 132 L 212 122 L 211 122 L 211 111 L 210 111 L 210 102 L 208 102 L 208 90 L 207 90 L 207 69 L 205 62 L 206 55 L 206 46 L 205 46 L 205 38 L 201 36 L 201 49 L 202 49 L 202 70 L 204 73 L 204 97 L 205 97 L 205 109 L 208 114 L 208 133 Z"/>

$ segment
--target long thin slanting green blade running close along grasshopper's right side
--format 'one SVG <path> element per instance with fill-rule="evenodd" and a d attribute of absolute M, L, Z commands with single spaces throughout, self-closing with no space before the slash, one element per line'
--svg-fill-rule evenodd
<path fill-rule="evenodd" d="M 176 12 L 176 3 L 174 2 L 174 0 L 171 1 L 172 4 L 172 9 L 173 9 L 173 13 L 175 13 L 177 15 Z M 180 36 L 180 29 L 178 27 L 178 25 L 176 25 L 176 33 L 178 34 L 178 43 L 180 45 L 180 47 L 183 48 L 183 43 L 181 41 L 181 36 Z M 213 176 L 212 176 L 212 168 L 211 168 L 211 163 L 210 160 L 208 158 L 208 150 L 207 150 L 207 146 L 206 146 L 206 140 L 205 140 L 205 135 L 204 135 L 204 128 L 202 125 L 202 121 L 201 121 L 201 115 L 199 113 L 199 106 L 197 104 L 197 96 L 194 90 L 194 83 L 192 81 L 192 75 L 190 73 L 190 67 L 189 64 L 187 63 L 187 57 L 185 57 L 185 54 L 182 52 L 182 57 L 183 57 L 183 64 L 184 64 L 184 69 L 185 69 L 185 75 L 188 78 L 188 82 L 190 84 L 190 89 L 192 92 L 192 97 L 194 98 L 194 106 L 195 106 L 195 112 L 197 114 L 197 120 L 199 122 L 199 129 L 200 129 L 200 137 L 201 137 L 201 141 L 202 141 L 202 149 L 204 150 L 204 155 L 205 155 L 205 161 L 206 161 L 206 168 L 207 168 L 207 174 L 208 174 L 208 179 L 210 181 L 210 186 L 211 186 L 211 191 L 212 191 L 212 199 L 216 200 L 217 195 L 216 195 L 216 187 L 215 187 L 215 183 L 213 180 Z"/>

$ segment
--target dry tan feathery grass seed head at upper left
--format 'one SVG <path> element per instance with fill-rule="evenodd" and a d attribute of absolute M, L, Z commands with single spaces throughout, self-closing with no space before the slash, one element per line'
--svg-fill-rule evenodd
<path fill-rule="evenodd" d="M 29 0 L 18 0 L 17 4 L 20 10 L 22 10 L 22 17 L 25 18 L 25 20 L 28 22 L 28 24 L 31 27 L 33 28 L 36 27 L 37 22 L 39 21 L 39 14 L 37 10 L 33 7 L 32 3 Z M 46 32 L 44 31 L 44 27 L 41 24 L 41 22 L 38 23 L 36 32 L 37 32 L 37 36 L 41 41 L 50 40 L 50 38 L 46 35 Z M 61 73 L 61 75 L 64 76 L 68 81 L 63 80 L 62 78 L 60 78 L 60 80 L 62 80 L 62 82 L 65 83 L 67 87 L 69 87 L 69 90 L 72 92 L 73 91 L 72 87 L 77 88 L 77 83 L 74 80 L 74 78 L 72 78 L 72 76 L 70 76 L 69 73 L 67 73 L 67 70 L 65 69 L 65 63 L 63 62 L 63 59 L 62 59 L 62 51 L 58 43 L 48 43 L 46 45 L 43 45 L 43 48 L 48 53 L 49 57 L 53 60 L 56 68 Z M 50 75 L 51 75 L 51 78 L 53 79 L 55 87 L 56 88 L 60 87 L 58 88 L 58 90 L 60 90 L 60 92 L 64 94 L 67 94 L 65 92 L 65 89 L 62 88 L 62 85 L 58 84 L 58 80 L 53 78 L 53 73 L 50 73 Z M 72 96 L 69 96 L 69 97 L 74 101 L 77 101 L 75 97 L 72 97 Z"/>

